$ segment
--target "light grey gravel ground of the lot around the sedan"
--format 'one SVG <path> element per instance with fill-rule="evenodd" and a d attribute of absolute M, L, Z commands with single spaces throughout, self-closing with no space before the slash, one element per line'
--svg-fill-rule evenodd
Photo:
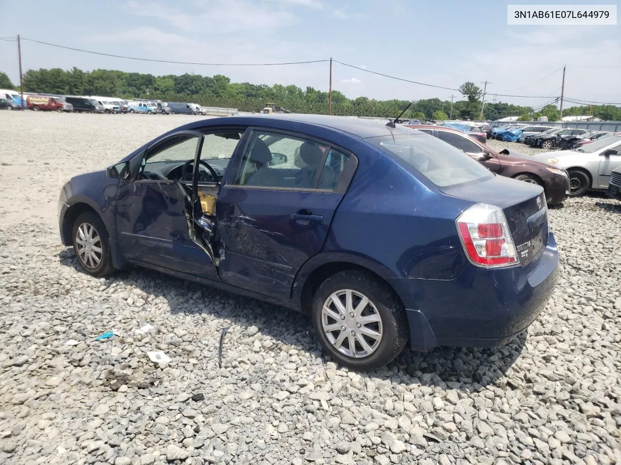
<path fill-rule="evenodd" d="M 0 112 L 1 464 L 621 463 L 619 202 L 550 210 L 562 277 L 527 334 L 354 373 L 306 317 L 145 270 L 93 278 L 61 246 L 65 179 L 191 119 Z"/>

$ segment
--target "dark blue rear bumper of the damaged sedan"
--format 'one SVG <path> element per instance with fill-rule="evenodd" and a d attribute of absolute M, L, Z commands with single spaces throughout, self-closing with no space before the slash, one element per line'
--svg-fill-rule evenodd
<path fill-rule="evenodd" d="M 528 272 L 468 263 L 453 280 L 391 281 L 399 294 L 407 294 L 402 298 L 409 307 L 412 350 L 494 347 L 514 339 L 540 314 L 558 281 L 558 251 L 550 233 L 542 258 Z"/>

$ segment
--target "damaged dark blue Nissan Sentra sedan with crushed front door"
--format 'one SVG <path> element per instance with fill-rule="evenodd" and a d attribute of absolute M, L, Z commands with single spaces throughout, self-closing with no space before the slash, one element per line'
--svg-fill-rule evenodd
<path fill-rule="evenodd" d="M 543 189 L 420 131 L 357 118 L 189 123 L 61 190 L 85 272 L 132 265 L 309 314 L 358 370 L 509 342 L 558 278 Z"/>

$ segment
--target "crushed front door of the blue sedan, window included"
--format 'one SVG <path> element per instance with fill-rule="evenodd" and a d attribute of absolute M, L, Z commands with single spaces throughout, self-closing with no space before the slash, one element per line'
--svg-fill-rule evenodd
<path fill-rule="evenodd" d="M 179 131 L 145 151 L 138 173 L 120 180 L 117 236 L 127 259 L 217 279 L 209 251 L 193 240 L 194 160 L 201 133 Z"/>

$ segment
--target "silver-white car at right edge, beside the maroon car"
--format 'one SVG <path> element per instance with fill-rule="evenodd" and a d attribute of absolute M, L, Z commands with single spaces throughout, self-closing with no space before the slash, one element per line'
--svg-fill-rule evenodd
<path fill-rule="evenodd" d="M 575 150 L 546 152 L 533 159 L 564 168 L 569 173 L 569 195 L 607 189 L 610 172 L 621 166 L 621 135 L 597 139 Z"/>

